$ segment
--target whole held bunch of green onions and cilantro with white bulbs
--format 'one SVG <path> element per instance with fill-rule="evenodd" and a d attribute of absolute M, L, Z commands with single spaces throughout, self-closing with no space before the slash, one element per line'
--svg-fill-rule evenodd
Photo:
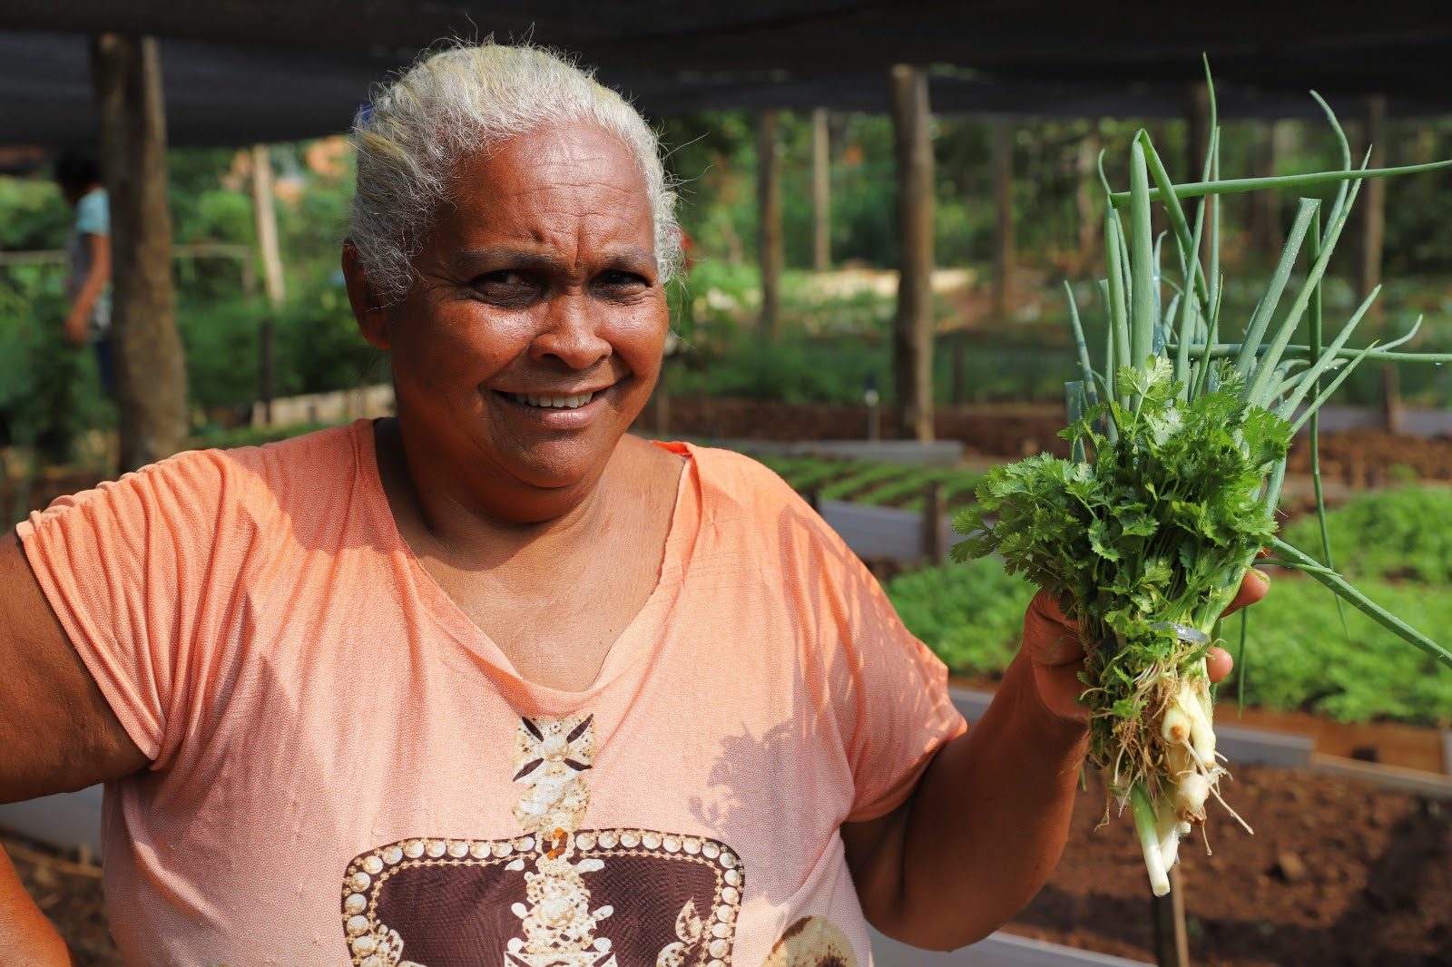
<path fill-rule="evenodd" d="M 1314 94 L 1313 94 L 1314 96 Z M 1173 184 L 1149 135 L 1130 151 L 1130 189 L 1108 192 L 1105 362 L 1095 367 L 1070 292 L 1079 379 L 1067 385 L 1072 457 L 1050 454 L 993 468 L 977 504 L 954 527 L 957 560 L 1000 555 L 1012 574 L 1054 594 L 1085 646 L 1089 762 L 1108 777 L 1109 810 L 1130 807 L 1150 884 L 1169 891 L 1179 841 L 1207 819 L 1227 775 L 1215 749 L 1207 653 L 1246 569 L 1300 568 L 1404 640 L 1452 666 L 1452 652 L 1352 588 L 1320 558 L 1276 539 L 1275 508 L 1294 436 L 1366 359 L 1443 362 L 1350 348 L 1376 293 L 1330 343 L 1321 335 L 1321 285 L 1363 179 L 1395 170 L 1352 164 L 1346 136 L 1317 97 L 1342 144 L 1342 168 L 1317 176 L 1221 180 L 1214 126 L 1202 179 Z M 1334 196 L 1301 199 L 1285 247 L 1239 341 L 1221 337 L 1220 195 L 1334 184 Z M 1195 202 L 1194 215 L 1185 211 Z M 1172 277 L 1151 206 L 1172 237 Z M 1194 221 L 1192 221 L 1194 219 Z M 1292 276 L 1301 276 L 1291 286 Z M 1294 292 L 1292 292 L 1294 289 Z M 1165 301 L 1163 296 L 1170 298 Z M 1302 319 L 1310 344 L 1292 344 Z M 1313 440 L 1314 446 L 1314 440 Z M 1317 481 L 1317 494 L 1320 486 Z M 1323 520 L 1324 505 L 1317 499 Z M 1228 809 L 1228 806 L 1227 806 Z M 1234 815 L 1233 810 L 1230 810 Z M 1239 819 L 1239 816 L 1236 816 Z M 1243 822 L 1243 820 L 1241 820 Z M 1249 829 L 1249 826 L 1247 826 Z"/>

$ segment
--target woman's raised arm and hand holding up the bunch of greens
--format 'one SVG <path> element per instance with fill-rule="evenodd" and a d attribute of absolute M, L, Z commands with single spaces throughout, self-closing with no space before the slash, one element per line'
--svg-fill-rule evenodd
<path fill-rule="evenodd" d="M 1265 589 L 1246 581 L 1233 608 Z M 938 751 L 908 801 L 842 826 L 862 910 L 877 929 L 955 950 L 995 931 L 1048 880 L 1088 745 L 1074 701 L 1082 662 L 1077 635 L 1040 594 L 1024 617 L 1024 648 L 983 719 Z M 1223 678 L 1228 664 L 1215 665 L 1212 677 Z"/>

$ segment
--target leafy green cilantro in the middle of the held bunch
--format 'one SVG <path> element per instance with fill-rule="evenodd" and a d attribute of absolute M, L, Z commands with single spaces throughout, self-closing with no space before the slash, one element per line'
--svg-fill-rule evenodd
<path fill-rule="evenodd" d="M 1257 488 L 1284 459 L 1289 424 L 1246 408 L 1228 367 L 1191 399 L 1163 360 L 1127 366 L 1119 382 L 1133 407 L 1099 404 L 1061 434 L 1093 462 L 1040 454 L 993 468 L 954 521 L 970 534 L 954 558 L 1000 553 L 1012 574 L 1069 601 L 1086 642 L 1134 640 L 1159 621 L 1208 632 L 1275 531 Z M 1114 441 L 1098 430 L 1106 415 Z"/>

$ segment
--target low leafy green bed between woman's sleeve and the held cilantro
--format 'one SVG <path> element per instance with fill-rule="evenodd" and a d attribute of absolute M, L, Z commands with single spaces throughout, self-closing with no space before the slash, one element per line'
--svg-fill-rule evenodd
<path fill-rule="evenodd" d="M 923 568 L 886 585 L 908 630 L 958 675 L 998 678 L 1018 652 L 1034 587 L 998 560 Z"/>

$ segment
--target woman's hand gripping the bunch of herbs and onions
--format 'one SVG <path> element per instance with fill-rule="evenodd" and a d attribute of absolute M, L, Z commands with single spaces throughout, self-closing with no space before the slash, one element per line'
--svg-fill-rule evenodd
<path fill-rule="evenodd" d="M 1250 575 L 1255 575 L 1252 578 Z M 1270 579 L 1259 571 L 1246 569 L 1240 591 L 1225 608 L 1225 614 L 1255 604 L 1266 595 Z M 1045 591 L 1034 595 L 1024 614 L 1024 655 L 1034 669 L 1034 682 L 1044 709 L 1051 714 L 1072 722 L 1088 722 L 1089 713 L 1077 703 L 1085 684 L 1079 681 L 1083 671 L 1085 649 L 1079 643 L 1079 632 L 1064 617 L 1059 601 Z M 1205 658 L 1205 669 L 1212 682 L 1223 681 L 1233 666 L 1230 652 L 1211 648 Z"/>

